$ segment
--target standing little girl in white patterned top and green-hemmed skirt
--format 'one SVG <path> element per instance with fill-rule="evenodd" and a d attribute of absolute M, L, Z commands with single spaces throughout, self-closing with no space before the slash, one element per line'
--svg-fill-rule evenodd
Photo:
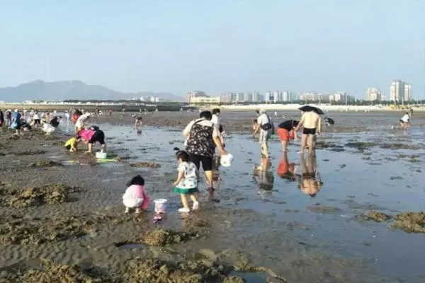
<path fill-rule="evenodd" d="M 192 210 L 199 209 L 199 202 L 196 200 L 194 195 L 198 192 L 198 169 L 195 164 L 191 162 L 189 154 L 186 151 L 177 151 L 176 159 L 179 161 L 179 175 L 176 182 L 174 182 L 174 192 L 181 195 L 181 203 L 183 207 L 179 209 L 179 212 L 190 212 L 191 209 L 188 207 L 188 200 L 186 195 L 190 195 L 191 200 L 193 201 Z"/>

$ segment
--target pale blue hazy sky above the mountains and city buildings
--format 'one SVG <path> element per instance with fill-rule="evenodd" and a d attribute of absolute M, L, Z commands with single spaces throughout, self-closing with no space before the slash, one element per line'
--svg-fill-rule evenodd
<path fill-rule="evenodd" d="M 424 0 L 0 0 L 0 87 L 389 93 L 425 99 Z"/>

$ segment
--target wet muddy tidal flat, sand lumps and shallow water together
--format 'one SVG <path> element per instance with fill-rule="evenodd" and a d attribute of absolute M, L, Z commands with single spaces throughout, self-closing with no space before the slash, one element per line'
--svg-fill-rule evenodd
<path fill-rule="evenodd" d="M 148 127 L 142 135 L 132 131 L 130 113 L 94 119 L 119 163 L 69 154 L 61 147 L 66 131 L 52 137 L 26 133 L 19 139 L 0 134 L 0 278 L 40 282 L 64 270 L 63 265 L 72 265 L 66 268 L 74 278 L 98 282 L 181 282 L 188 277 L 240 282 L 234 276 L 247 282 L 414 282 L 424 275 L 425 235 L 412 233 L 420 229 L 398 229 L 397 219 L 358 218 L 371 210 L 388 215 L 424 211 L 421 127 L 388 131 L 391 115 L 370 115 L 375 123 L 368 117 L 336 116 L 344 127 L 329 128 L 319 137 L 317 170 L 324 185 L 312 198 L 297 189 L 297 182 L 279 178 L 276 140 L 271 141 L 271 171 L 277 174 L 273 189 L 257 188 L 251 167 L 259 163 L 258 144 L 241 134 L 251 129 L 252 115 L 224 113 L 228 149 L 236 158 L 231 168 L 220 168 L 221 202 L 206 202 L 203 185 L 200 212 L 182 218 L 176 213 L 179 197 L 171 192 L 173 148 L 182 146 L 181 130 L 197 114 L 149 113 L 143 116 Z M 288 160 L 300 174 L 296 151 L 290 146 Z M 148 166 L 152 163 L 159 166 Z M 123 213 L 125 183 L 136 173 L 147 180 L 152 199 L 169 200 L 169 212 L 159 224 L 152 223 L 152 208 L 140 215 Z M 420 217 L 399 222 L 417 228 Z M 387 257 L 388 248 L 395 257 Z M 50 275 L 28 273 L 33 268 Z"/>

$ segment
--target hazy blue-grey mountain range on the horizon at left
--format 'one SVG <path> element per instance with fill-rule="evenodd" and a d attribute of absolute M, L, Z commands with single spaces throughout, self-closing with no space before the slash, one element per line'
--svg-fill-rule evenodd
<path fill-rule="evenodd" d="M 104 86 L 94 86 L 82 81 L 31 81 L 19 86 L 0 88 L 0 100 L 23 102 L 26 100 L 118 100 L 140 97 L 159 97 L 160 101 L 183 101 L 173 93 L 121 93 Z"/>

